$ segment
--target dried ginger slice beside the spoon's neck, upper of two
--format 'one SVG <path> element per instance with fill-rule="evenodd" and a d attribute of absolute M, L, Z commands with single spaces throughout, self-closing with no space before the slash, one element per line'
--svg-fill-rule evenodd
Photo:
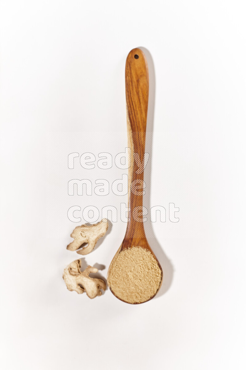
<path fill-rule="evenodd" d="M 77 226 L 72 234 L 70 235 L 74 238 L 73 242 L 67 246 L 68 250 L 77 250 L 82 244 L 88 243 L 88 245 L 77 251 L 78 254 L 86 255 L 94 249 L 97 240 L 105 235 L 108 230 L 108 221 L 103 218 L 102 221 L 94 225 L 81 225 Z"/>

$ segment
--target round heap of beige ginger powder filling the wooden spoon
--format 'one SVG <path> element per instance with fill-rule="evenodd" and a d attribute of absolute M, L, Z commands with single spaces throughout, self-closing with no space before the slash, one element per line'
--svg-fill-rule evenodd
<path fill-rule="evenodd" d="M 152 253 L 142 247 L 124 249 L 114 258 L 108 285 L 128 303 L 142 303 L 153 297 L 162 280 L 162 271 Z"/>

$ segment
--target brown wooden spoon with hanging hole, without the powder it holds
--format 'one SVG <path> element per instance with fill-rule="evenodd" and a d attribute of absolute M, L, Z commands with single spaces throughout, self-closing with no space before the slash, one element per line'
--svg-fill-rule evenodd
<path fill-rule="evenodd" d="M 111 266 L 119 253 L 123 250 L 134 248 L 135 246 L 142 247 L 152 253 L 161 271 L 160 285 L 157 288 L 155 294 L 147 299 L 150 300 L 156 295 L 161 286 L 163 273 L 162 268 L 146 239 L 143 222 L 139 222 L 139 219 L 141 219 L 141 217 L 138 218 L 139 215 L 141 215 L 141 213 L 139 212 L 141 212 L 143 206 L 143 195 L 141 195 L 142 189 L 140 188 L 141 184 L 143 184 L 144 171 L 139 173 L 139 166 L 136 164 L 136 160 L 134 160 L 133 154 L 138 154 L 140 161 L 143 161 L 145 154 L 145 136 L 149 98 L 148 64 L 145 54 L 139 48 L 132 49 L 127 56 L 125 66 L 125 88 L 127 101 L 128 147 L 131 148 L 131 166 L 129 167 L 128 172 L 128 207 L 131 208 L 131 211 L 129 212 L 129 217 L 131 218 L 131 221 L 127 223 L 125 238 L 110 264 L 107 280 L 111 292 L 117 298 L 121 299 L 121 297 L 115 294 L 114 290 L 110 286 Z M 136 219 L 138 219 L 138 221 L 136 221 Z M 148 271 L 146 271 L 146 273 L 148 273 Z M 149 284 L 151 284 L 151 281 L 149 282 Z M 146 300 L 143 300 L 143 302 L 146 302 Z"/>

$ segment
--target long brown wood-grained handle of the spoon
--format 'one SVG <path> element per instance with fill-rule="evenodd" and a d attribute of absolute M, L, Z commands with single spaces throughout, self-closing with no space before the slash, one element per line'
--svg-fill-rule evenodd
<path fill-rule="evenodd" d="M 138 58 L 135 58 L 135 55 Z M 131 148 L 131 166 L 128 171 L 128 207 L 131 208 L 125 239 L 145 238 L 143 222 L 137 222 L 132 216 L 135 207 L 142 207 L 143 196 L 131 192 L 134 180 L 143 181 L 144 172 L 136 174 L 138 166 L 134 161 L 134 153 L 139 154 L 142 161 L 145 153 L 145 135 L 149 100 L 149 71 L 146 57 L 142 50 L 135 48 L 127 56 L 125 65 L 125 91 L 127 103 L 127 136 L 128 147 Z M 144 189 L 143 189 L 144 190 Z M 123 248 L 128 248 L 124 243 Z M 138 245 L 138 244 L 135 244 Z"/>

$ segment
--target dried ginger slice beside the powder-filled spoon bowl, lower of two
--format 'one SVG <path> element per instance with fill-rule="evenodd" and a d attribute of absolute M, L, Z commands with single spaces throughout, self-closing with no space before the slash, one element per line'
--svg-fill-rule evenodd
<path fill-rule="evenodd" d="M 87 266 L 87 268 L 81 272 L 81 261 L 77 259 L 70 263 L 63 272 L 63 279 L 66 283 L 67 289 L 72 291 L 75 290 L 78 294 L 86 292 L 89 298 L 95 298 L 101 296 L 102 292 L 100 289 L 106 290 L 106 283 L 97 278 L 90 277 L 90 273 L 98 272 L 96 267 Z"/>

